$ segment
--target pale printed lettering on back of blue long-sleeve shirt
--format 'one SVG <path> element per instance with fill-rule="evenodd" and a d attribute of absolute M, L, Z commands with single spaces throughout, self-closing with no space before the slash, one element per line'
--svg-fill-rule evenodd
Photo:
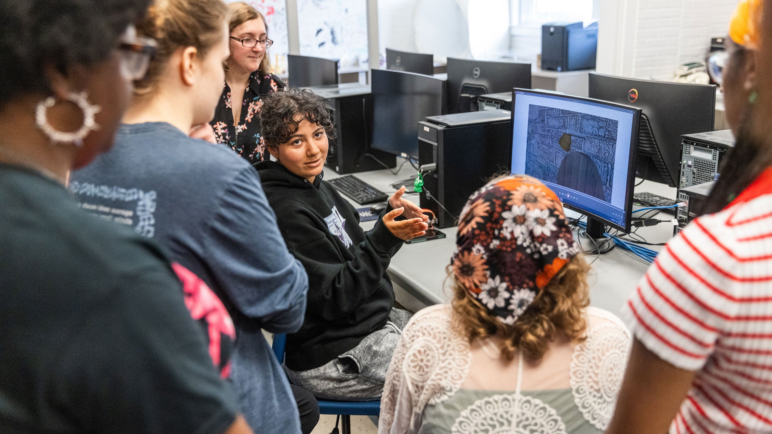
<path fill-rule="evenodd" d="M 90 196 L 117 202 L 111 206 L 80 202 L 80 207 L 93 212 L 102 219 L 134 226 L 134 231 L 141 236 L 153 237 L 155 233 L 153 213 L 155 212 L 157 197 L 155 190 L 143 192 L 138 188 L 108 187 L 107 185 L 72 181 L 69 184 L 69 191 L 78 195 L 79 198 Z M 137 203 L 132 207 L 133 202 Z M 137 217 L 136 220 L 134 216 Z"/>

